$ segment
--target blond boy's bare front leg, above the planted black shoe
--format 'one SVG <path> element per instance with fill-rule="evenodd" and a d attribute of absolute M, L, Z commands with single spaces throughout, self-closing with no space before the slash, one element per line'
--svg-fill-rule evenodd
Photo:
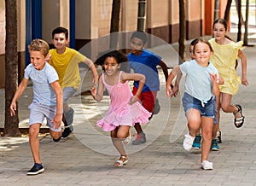
<path fill-rule="evenodd" d="M 32 156 L 35 163 L 41 164 L 40 153 L 39 153 L 39 130 L 41 124 L 33 124 L 29 126 L 29 145 L 32 151 Z"/>

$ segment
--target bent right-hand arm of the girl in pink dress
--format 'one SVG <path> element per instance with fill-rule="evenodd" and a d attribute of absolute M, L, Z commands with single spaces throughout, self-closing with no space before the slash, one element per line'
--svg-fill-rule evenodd
<path fill-rule="evenodd" d="M 143 74 L 140 73 L 122 73 L 121 82 L 124 83 L 127 80 L 139 81 L 137 92 L 134 96 L 131 97 L 130 104 L 132 105 L 133 103 L 137 102 L 138 97 L 141 95 L 146 78 Z"/>

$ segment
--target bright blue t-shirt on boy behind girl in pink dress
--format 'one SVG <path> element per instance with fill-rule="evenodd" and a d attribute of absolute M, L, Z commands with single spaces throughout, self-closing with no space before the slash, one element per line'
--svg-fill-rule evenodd
<path fill-rule="evenodd" d="M 157 66 L 161 61 L 159 55 L 155 55 L 148 49 L 143 49 L 141 55 L 130 53 L 127 55 L 129 60 L 129 68 L 133 69 L 134 73 L 141 73 L 146 77 L 146 83 L 143 87 L 143 92 L 151 90 L 160 90 L 160 80 L 158 76 Z M 139 81 L 135 81 L 134 85 L 138 88 Z"/>

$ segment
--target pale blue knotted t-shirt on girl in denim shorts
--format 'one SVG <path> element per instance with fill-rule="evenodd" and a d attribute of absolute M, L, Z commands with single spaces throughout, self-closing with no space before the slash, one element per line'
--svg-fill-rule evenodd
<path fill-rule="evenodd" d="M 179 66 L 183 75 L 186 75 L 185 92 L 201 102 L 207 102 L 212 97 L 212 81 L 210 73 L 217 74 L 216 67 L 209 62 L 207 67 L 201 67 L 197 61 L 187 61 Z"/>

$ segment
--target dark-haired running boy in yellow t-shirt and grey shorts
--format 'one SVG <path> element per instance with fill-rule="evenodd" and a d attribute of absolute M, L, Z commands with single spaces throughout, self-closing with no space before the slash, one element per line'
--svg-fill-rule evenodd
<path fill-rule="evenodd" d="M 69 108 L 67 100 L 79 89 L 79 62 L 84 62 L 90 67 L 93 74 L 93 83 L 96 83 L 98 80 L 98 73 L 93 62 L 77 50 L 68 48 L 68 42 L 68 31 L 66 28 L 59 26 L 52 31 L 52 43 L 55 45 L 55 49 L 49 50 L 49 64 L 55 67 L 63 90 L 64 115 L 62 121 L 65 125 L 65 130 L 62 132 L 62 137 L 68 137 L 73 131 L 73 108 Z"/>

